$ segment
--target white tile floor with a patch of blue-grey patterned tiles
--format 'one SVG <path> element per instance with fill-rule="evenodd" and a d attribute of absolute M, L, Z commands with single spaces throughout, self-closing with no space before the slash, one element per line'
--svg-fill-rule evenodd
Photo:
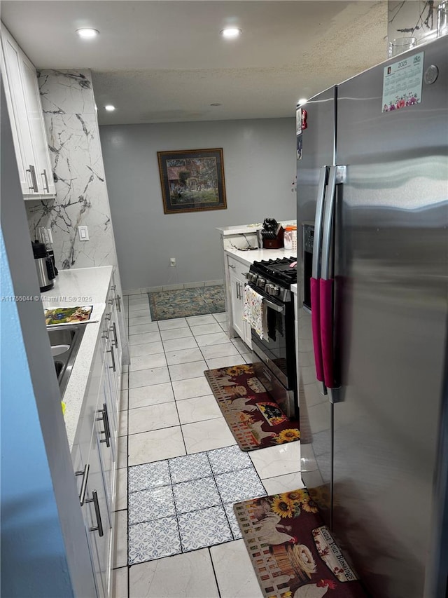
<path fill-rule="evenodd" d="M 239 451 L 203 374 L 251 362 L 225 313 L 151 322 L 146 294 L 125 311 L 113 598 L 261 598 L 232 502 L 302 487 L 300 442 Z"/>

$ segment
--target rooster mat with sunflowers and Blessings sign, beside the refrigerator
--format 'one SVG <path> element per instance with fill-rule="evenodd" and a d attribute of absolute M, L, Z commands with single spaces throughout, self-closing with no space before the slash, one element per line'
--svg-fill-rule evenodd
<path fill-rule="evenodd" d="M 361 583 L 307 489 L 234 505 L 266 598 L 362 598 Z"/>

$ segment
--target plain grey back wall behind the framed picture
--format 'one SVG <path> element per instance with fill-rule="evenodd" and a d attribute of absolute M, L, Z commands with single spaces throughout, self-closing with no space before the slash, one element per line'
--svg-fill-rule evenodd
<path fill-rule="evenodd" d="M 125 289 L 223 278 L 217 226 L 295 219 L 295 118 L 109 125 L 99 134 Z M 227 210 L 165 215 L 157 152 L 218 147 Z"/>

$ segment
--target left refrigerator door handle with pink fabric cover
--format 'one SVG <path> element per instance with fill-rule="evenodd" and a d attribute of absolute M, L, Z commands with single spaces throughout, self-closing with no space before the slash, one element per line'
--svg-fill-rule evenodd
<path fill-rule="evenodd" d="M 313 334 L 314 363 L 316 365 L 316 379 L 323 382 L 323 361 L 321 346 L 321 307 L 319 297 L 319 276 L 321 267 L 321 239 L 322 239 L 322 219 L 323 219 L 323 200 L 325 198 L 325 187 L 327 185 L 328 166 L 321 166 L 319 173 L 319 182 L 317 187 L 316 216 L 314 219 L 314 243 L 313 243 L 313 262 L 311 270 L 310 291 L 311 291 L 311 329 Z M 326 394 L 325 385 L 323 385 L 323 394 Z"/>

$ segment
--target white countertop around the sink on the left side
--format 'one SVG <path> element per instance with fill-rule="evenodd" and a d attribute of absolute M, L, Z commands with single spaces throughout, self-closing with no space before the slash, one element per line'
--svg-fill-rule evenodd
<path fill-rule="evenodd" d="M 66 386 L 64 397 L 62 397 L 66 405 L 64 420 L 70 449 L 73 446 L 79 414 L 83 405 L 111 276 L 112 266 L 59 270 L 54 287 L 41 294 L 42 305 L 45 309 L 93 305 L 92 322 L 85 326 L 69 383 Z"/>

